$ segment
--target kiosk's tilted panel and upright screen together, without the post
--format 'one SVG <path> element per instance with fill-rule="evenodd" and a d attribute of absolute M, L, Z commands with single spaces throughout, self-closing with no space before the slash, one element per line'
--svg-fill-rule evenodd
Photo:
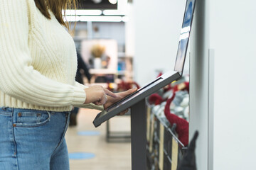
<path fill-rule="evenodd" d="M 196 0 L 187 0 L 186 8 L 183 16 L 183 23 L 181 27 L 180 38 L 178 40 L 178 50 L 176 55 L 176 63 L 174 66 L 174 71 L 167 72 L 161 77 L 158 77 L 154 81 L 151 81 L 146 86 L 138 89 L 133 94 L 123 98 L 121 101 L 114 103 L 110 108 L 97 114 L 93 124 L 95 127 L 101 125 L 106 120 L 109 120 L 114 115 L 117 115 L 121 111 L 130 108 L 135 103 L 142 101 L 147 96 L 153 94 L 164 86 L 171 84 L 171 82 L 176 81 L 182 77 L 183 67 L 186 59 L 186 52 L 188 49 L 188 40 L 191 33 L 191 25 L 193 21 L 193 11 L 195 8 Z"/>

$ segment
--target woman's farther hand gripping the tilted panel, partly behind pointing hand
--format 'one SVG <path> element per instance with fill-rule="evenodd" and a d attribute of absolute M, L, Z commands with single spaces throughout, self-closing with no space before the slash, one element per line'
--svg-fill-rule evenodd
<path fill-rule="evenodd" d="M 119 93 L 115 94 L 117 97 L 107 96 L 107 102 L 104 105 L 104 109 L 112 106 L 112 104 L 117 103 L 117 101 L 120 101 L 122 98 L 128 96 L 129 94 L 134 93 L 134 91 L 137 91 L 137 88 L 119 92 Z M 126 109 L 125 111 L 122 111 L 118 115 L 124 115 L 125 113 L 127 113 L 127 111 L 128 111 L 128 109 Z"/>

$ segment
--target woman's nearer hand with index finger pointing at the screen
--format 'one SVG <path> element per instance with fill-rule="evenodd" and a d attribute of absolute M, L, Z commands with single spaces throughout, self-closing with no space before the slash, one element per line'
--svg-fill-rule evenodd
<path fill-rule="evenodd" d="M 86 94 L 84 104 L 94 103 L 95 105 L 104 105 L 107 102 L 107 96 L 118 98 L 117 95 L 99 85 L 90 86 L 84 90 Z"/>

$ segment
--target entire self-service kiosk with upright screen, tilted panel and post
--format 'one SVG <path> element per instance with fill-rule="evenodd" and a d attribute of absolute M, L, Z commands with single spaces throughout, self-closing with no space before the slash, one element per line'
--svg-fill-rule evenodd
<path fill-rule="evenodd" d="M 131 108 L 131 137 L 132 137 L 132 169 L 146 170 L 146 97 L 154 92 L 181 79 L 188 50 L 188 40 L 191 33 L 193 12 L 196 0 L 187 0 L 183 16 L 180 38 L 174 71 L 166 72 L 151 81 L 146 86 L 135 91 L 133 94 L 122 98 L 109 108 L 97 114 L 93 124 L 95 127 L 114 117 L 121 111 Z"/>

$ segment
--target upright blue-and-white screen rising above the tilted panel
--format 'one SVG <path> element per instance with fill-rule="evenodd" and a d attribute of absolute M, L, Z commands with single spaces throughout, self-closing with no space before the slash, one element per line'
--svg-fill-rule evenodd
<path fill-rule="evenodd" d="M 188 38 L 191 30 L 192 16 L 193 16 L 193 2 L 189 1 L 186 4 L 186 11 L 182 23 L 181 35 L 178 42 L 178 51 L 176 56 L 176 63 L 174 70 L 176 72 L 182 72 L 187 52 Z"/>

